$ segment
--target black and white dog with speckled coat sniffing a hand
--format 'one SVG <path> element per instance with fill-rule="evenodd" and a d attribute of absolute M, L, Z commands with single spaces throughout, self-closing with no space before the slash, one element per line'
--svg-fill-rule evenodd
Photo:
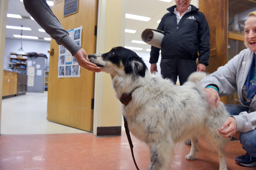
<path fill-rule="evenodd" d="M 175 144 L 187 138 L 191 138 L 191 150 L 186 159 L 194 160 L 198 135 L 216 147 L 219 169 L 227 169 L 224 147 L 228 140 L 217 130 L 229 116 L 223 103 L 210 108 L 200 85 L 188 81 L 176 86 L 152 75 L 142 58 L 124 47 L 88 57 L 101 71 L 111 74 L 118 99 L 131 95 L 131 101 L 122 106 L 123 114 L 131 133 L 150 148 L 148 169 L 168 168 Z"/>

